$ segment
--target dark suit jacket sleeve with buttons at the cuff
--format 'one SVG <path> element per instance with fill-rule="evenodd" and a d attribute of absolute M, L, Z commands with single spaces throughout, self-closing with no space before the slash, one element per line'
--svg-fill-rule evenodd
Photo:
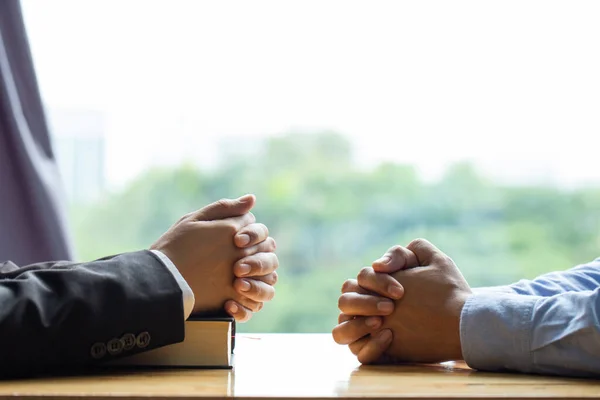
<path fill-rule="evenodd" d="M 183 338 L 181 288 L 150 251 L 0 263 L 0 376 L 94 365 Z"/>

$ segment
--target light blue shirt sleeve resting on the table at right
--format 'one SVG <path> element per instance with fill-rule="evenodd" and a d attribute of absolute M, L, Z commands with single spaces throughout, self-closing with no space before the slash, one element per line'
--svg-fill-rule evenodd
<path fill-rule="evenodd" d="M 475 290 L 461 313 L 472 368 L 600 375 L 600 259 L 513 285 Z"/>

